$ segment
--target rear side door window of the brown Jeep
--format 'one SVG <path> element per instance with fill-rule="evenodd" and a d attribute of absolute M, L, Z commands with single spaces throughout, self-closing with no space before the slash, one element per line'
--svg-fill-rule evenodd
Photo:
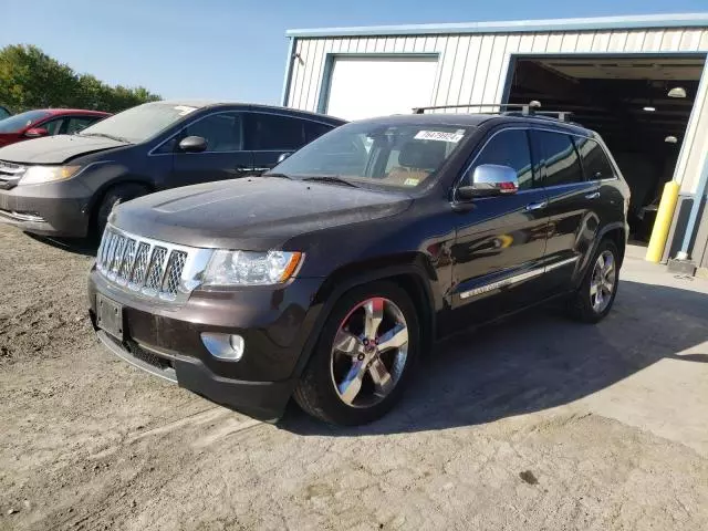
<path fill-rule="evenodd" d="M 570 185 L 584 180 L 580 157 L 570 135 L 534 131 L 545 164 L 543 186 Z"/>

